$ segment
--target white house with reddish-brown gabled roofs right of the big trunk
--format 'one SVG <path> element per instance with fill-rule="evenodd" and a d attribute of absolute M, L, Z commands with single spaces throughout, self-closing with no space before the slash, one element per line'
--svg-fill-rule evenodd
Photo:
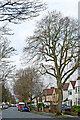
<path fill-rule="evenodd" d="M 63 103 L 69 106 L 80 106 L 80 77 L 63 86 Z"/>

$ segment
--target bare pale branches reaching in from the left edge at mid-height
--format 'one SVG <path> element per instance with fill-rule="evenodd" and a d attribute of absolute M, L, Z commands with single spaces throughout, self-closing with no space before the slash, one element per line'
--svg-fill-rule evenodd
<path fill-rule="evenodd" d="M 15 49 L 10 47 L 10 41 L 4 37 L 4 34 L 10 34 L 6 26 L 0 27 L 0 81 L 3 81 L 12 72 L 13 66 L 9 58 L 14 53 Z"/>

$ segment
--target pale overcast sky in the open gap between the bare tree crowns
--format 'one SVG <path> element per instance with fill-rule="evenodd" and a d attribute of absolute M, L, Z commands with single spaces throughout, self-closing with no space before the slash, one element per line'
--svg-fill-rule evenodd
<path fill-rule="evenodd" d="M 80 0 L 43 0 L 43 2 L 47 3 L 48 9 L 44 12 L 41 12 L 39 17 L 30 21 L 22 22 L 18 25 L 12 23 L 9 24 L 9 27 L 12 29 L 14 35 L 9 36 L 8 39 L 11 41 L 11 46 L 13 46 L 18 52 L 18 55 L 12 57 L 12 59 L 16 61 L 15 64 L 17 65 L 17 68 L 21 67 L 19 59 L 22 54 L 22 49 L 25 46 L 26 38 L 33 34 L 36 21 L 40 20 L 44 15 L 46 15 L 48 10 L 57 10 L 60 11 L 64 16 L 78 18 L 79 1 Z"/>

